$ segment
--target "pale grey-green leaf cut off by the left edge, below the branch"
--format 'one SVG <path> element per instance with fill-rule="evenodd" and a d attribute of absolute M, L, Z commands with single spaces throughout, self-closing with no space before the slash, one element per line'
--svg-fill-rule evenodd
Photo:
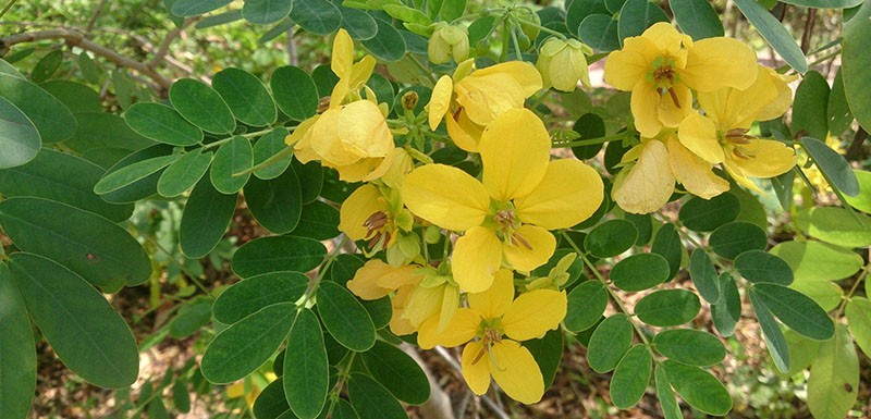
<path fill-rule="evenodd" d="M 33 122 L 17 107 L 0 97 L 0 169 L 14 168 L 36 158 L 42 140 Z"/>

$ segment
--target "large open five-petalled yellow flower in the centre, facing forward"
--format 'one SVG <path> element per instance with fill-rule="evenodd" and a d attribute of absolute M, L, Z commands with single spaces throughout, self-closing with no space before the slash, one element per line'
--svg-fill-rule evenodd
<path fill-rule="evenodd" d="M 428 164 L 403 183 L 402 198 L 416 215 L 465 232 L 454 247 L 454 280 L 467 292 L 487 289 L 502 266 L 531 271 L 553 255 L 548 230 L 589 218 L 602 201 L 602 180 L 578 160 L 550 161 L 551 141 L 529 110 L 508 110 L 481 135 L 483 182 L 459 169 Z"/>

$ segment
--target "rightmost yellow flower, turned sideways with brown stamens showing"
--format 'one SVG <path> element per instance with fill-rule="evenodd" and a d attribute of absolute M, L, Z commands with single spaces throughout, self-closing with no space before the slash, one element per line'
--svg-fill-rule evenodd
<path fill-rule="evenodd" d="M 759 188 L 750 177 L 773 177 L 795 165 L 795 150 L 785 144 L 747 134 L 753 121 L 780 116 L 788 108 L 789 90 L 783 77 L 758 66 L 748 89 L 724 88 L 699 94 L 698 99 L 704 115 L 689 114 L 677 131 L 680 143 L 695 155 L 712 164 L 723 163 L 736 182 L 755 190 Z"/>

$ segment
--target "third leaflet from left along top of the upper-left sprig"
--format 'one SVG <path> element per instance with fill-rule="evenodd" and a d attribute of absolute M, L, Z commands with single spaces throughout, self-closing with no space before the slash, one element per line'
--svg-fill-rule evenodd
<path fill-rule="evenodd" d="M 277 1 L 291 3 L 290 0 Z M 245 1 L 245 7 L 252 0 Z M 266 126 L 275 122 L 275 102 L 263 83 L 252 73 L 241 69 L 224 69 L 214 75 L 211 85 L 224 99 L 236 120 L 252 126 Z"/>

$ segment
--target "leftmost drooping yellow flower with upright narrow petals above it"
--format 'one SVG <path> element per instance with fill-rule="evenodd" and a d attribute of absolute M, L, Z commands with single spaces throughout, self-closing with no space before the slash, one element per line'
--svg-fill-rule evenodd
<path fill-rule="evenodd" d="M 302 162 L 320 160 L 339 171 L 340 178 L 359 182 L 372 177 L 393 149 L 384 114 L 366 81 L 375 69 L 375 59 L 364 57 L 354 63 L 354 42 L 344 29 L 333 40 L 332 71 L 339 76 L 330 96 L 329 108 L 303 121 L 289 136 Z M 365 90 L 368 100 L 360 96 Z"/>

